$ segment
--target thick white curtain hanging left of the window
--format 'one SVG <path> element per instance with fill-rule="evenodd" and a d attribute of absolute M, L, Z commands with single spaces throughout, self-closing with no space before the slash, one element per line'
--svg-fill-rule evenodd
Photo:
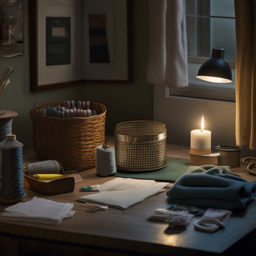
<path fill-rule="evenodd" d="M 147 81 L 170 88 L 188 85 L 187 39 L 183 0 L 148 0 Z"/>

